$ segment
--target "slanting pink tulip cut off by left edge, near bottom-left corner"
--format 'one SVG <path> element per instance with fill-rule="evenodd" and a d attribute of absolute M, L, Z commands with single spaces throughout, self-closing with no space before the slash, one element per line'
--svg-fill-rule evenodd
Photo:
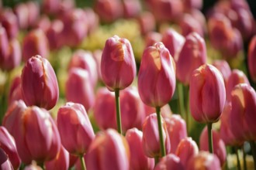
<path fill-rule="evenodd" d="M 12 138 L 12 135 L 9 134 L 9 131 L 7 131 L 3 126 L 0 126 L 0 146 L 9 156 L 12 167 L 14 169 L 18 169 L 21 164 L 21 160 L 16 149 L 16 143 Z"/>

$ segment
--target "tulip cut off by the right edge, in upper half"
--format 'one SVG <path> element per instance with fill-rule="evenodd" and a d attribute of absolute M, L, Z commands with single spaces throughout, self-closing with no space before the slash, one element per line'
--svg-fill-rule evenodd
<path fill-rule="evenodd" d="M 251 80 L 253 80 L 254 83 L 256 83 L 255 63 L 256 63 L 256 36 L 254 36 L 250 41 L 249 49 L 248 49 L 248 62 L 247 62 Z"/>

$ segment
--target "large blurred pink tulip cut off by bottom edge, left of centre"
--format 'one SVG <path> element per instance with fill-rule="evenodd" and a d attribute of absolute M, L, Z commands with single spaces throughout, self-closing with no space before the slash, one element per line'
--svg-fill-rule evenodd
<path fill-rule="evenodd" d="M 90 170 L 128 170 L 129 145 L 126 139 L 113 129 L 100 131 L 88 148 L 85 162 Z"/>

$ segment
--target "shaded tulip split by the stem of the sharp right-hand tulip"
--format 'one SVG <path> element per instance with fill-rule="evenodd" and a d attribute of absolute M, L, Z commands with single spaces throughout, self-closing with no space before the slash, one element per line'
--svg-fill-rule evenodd
<path fill-rule="evenodd" d="M 199 141 L 199 148 L 201 151 L 209 151 L 207 127 L 202 130 Z M 226 162 L 227 153 L 224 141 L 220 138 L 220 134 L 213 130 L 213 153 L 219 158 L 220 165 L 223 166 Z"/>

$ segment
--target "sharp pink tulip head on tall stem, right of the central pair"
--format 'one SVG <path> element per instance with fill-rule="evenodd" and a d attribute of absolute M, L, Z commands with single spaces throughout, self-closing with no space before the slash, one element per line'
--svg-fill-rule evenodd
<path fill-rule="evenodd" d="M 226 101 L 225 84 L 220 71 L 209 64 L 200 66 L 193 71 L 189 87 L 189 106 L 195 121 L 218 121 Z"/>

